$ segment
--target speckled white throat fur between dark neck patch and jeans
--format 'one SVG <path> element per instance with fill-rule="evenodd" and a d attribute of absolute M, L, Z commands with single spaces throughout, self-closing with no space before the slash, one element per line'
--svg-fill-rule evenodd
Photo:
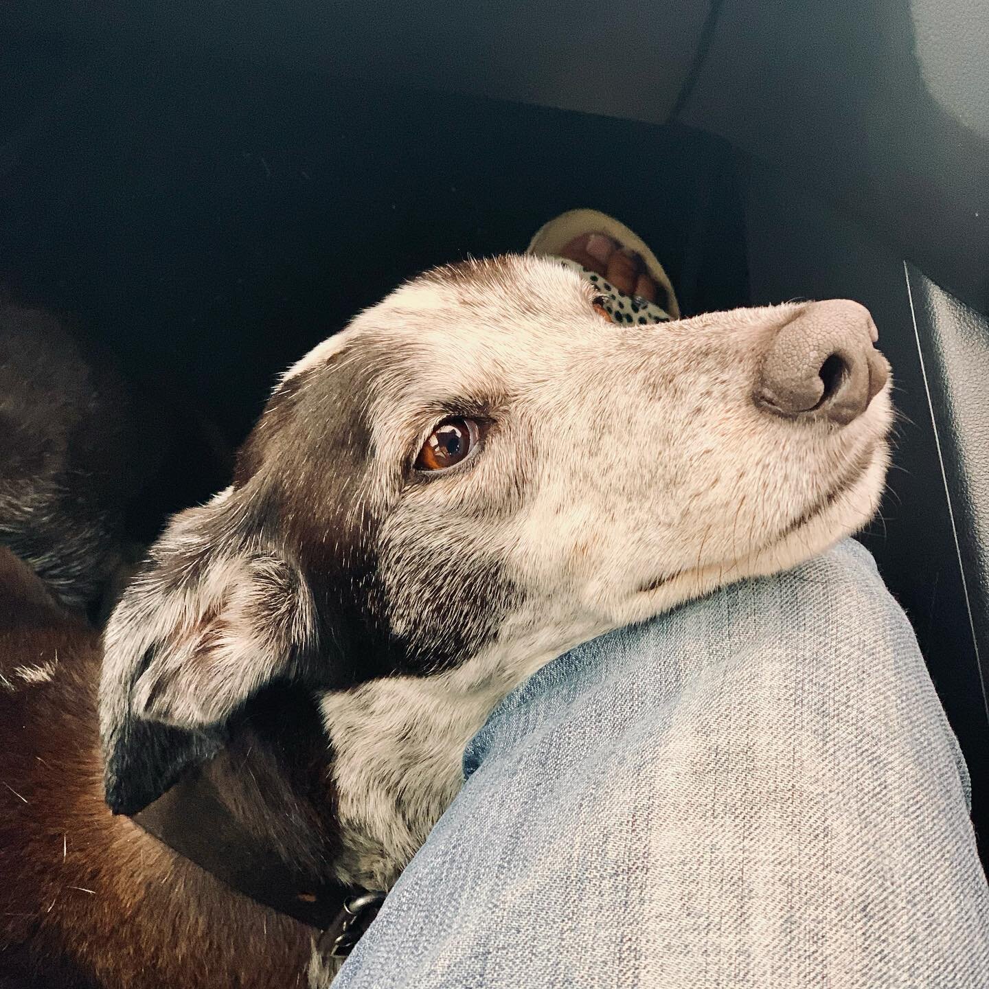
<path fill-rule="evenodd" d="M 568 631 L 516 634 L 510 648 L 495 645 L 442 674 L 380 677 L 322 695 L 340 881 L 391 889 L 459 792 L 464 750 L 498 702 L 599 631 L 569 615 L 560 627 Z"/>

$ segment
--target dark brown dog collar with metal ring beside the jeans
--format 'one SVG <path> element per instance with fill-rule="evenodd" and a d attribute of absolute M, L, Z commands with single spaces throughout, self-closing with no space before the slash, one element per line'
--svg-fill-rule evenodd
<path fill-rule="evenodd" d="M 230 813 L 196 769 L 132 820 L 236 892 L 322 932 L 318 949 L 334 958 L 350 953 L 385 900 L 384 893 L 314 879 L 289 865 Z"/>

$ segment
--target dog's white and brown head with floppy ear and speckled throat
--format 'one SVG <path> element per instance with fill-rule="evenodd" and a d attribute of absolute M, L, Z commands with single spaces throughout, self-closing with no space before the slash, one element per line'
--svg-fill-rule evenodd
<path fill-rule="evenodd" d="M 532 257 L 406 284 L 290 369 L 233 484 L 172 520 L 113 614 L 111 805 L 154 799 L 294 683 L 325 739 L 292 813 L 319 823 L 254 798 L 292 854 L 387 890 L 527 675 L 868 521 L 892 415 L 874 339 L 849 302 L 618 326 Z"/>

